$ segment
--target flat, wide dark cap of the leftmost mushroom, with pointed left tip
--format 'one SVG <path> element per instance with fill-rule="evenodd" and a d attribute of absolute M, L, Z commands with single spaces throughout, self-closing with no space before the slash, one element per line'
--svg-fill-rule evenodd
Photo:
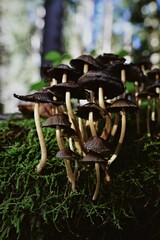
<path fill-rule="evenodd" d="M 26 102 L 35 102 L 35 103 L 52 103 L 53 105 L 61 105 L 63 102 L 54 101 L 53 97 L 55 96 L 54 93 L 51 91 L 48 91 L 47 89 L 44 89 L 39 92 L 35 92 L 28 95 L 17 95 L 13 94 L 15 98 L 18 98 L 19 100 L 26 101 Z"/>

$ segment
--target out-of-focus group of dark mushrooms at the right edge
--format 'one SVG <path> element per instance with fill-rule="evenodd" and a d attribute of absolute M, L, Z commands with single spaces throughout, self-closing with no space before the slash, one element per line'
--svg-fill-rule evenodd
<path fill-rule="evenodd" d="M 160 69 L 151 69 L 151 64 L 144 65 L 144 81 L 139 82 L 136 102 L 139 106 L 147 105 L 146 134 L 148 137 L 156 135 L 160 137 Z M 137 121 L 137 133 L 141 134 L 140 116 Z"/>

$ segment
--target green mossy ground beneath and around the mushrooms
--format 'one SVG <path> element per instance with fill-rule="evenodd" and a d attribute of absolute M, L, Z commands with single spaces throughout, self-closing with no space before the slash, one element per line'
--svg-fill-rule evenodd
<path fill-rule="evenodd" d="M 48 160 L 37 174 L 40 147 L 34 121 L 11 119 L 0 127 L 0 239 L 160 238 L 160 141 L 137 138 L 131 119 L 110 168 L 111 182 L 102 177 L 96 202 L 91 200 L 94 166 L 79 164 L 77 190 L 71 192 L 64 163 L 55 157 L 54 129 L 43 129 Z"/>

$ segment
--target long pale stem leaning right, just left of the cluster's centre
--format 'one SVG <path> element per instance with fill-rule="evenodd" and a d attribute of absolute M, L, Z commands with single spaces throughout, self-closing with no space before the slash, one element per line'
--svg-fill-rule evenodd
<path fill-rule="evenodd" d="M 70 91 L 66 92 L 66 108 L 67 108 L 67 112 L 68 112 L 68 116 L 74 126 L 75 131 L 78 134 L 78 141 L 79 141 L 79 153 L 82 153 L 84 147 L 83 147 L 83 142 L 82 142 L 82 136 L 81 136 L 81 132 L 79 130 L 79 125 L 78 122 L 73 114 L 73 110 L 72 110 L 72 106 L 71 106 L 71 93 Z"/>

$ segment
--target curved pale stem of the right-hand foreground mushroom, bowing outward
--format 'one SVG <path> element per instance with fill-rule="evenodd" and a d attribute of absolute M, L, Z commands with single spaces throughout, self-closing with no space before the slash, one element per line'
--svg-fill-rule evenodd
<path fill-rule="evenodd" d="M 126 132 L 126 113 L 122 109 L 122 111 L 121 111 L 121 133 L 120 133 L 119 141 L 118 141 L 117 147 L 115 149 L 115 152 L 111 156 L 111 158 L 108 160 L 108 166 L 111 165 L 115 161 L 115 159 L 117 158 L 117 156 L 120 152 L 120 149 L 122 147 L 125 132 Z"/>

